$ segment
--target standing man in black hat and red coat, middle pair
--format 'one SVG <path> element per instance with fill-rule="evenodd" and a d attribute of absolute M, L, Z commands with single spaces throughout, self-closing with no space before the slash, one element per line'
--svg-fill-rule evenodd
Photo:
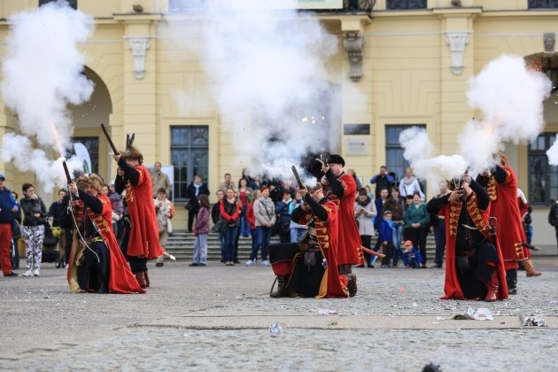
<path fill-rule="evenodd" d="M 337 265 L 340 275 L 351 274 L 352 265 L 364 264 L 359 228 L 354 218 L 356 183 L 351 174 L 345 173 L 343 167 L 345 159 L 337 154 L 329 155 L 328 164 L 322 165 L 322 171 L 329 182 L 328 198 L 339 207 Z M 356 278 L 354 285 L 356 288 Z"/>

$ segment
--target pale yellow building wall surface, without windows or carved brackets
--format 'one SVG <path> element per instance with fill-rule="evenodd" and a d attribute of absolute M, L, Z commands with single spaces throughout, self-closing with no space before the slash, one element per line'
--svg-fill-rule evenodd
<path fill-rule="evenodd" d="M 0 40 L 9 31 L 4 19 L 37 3 L 0 1 Z M 558 12 L 529 12 L 527 0 L 461 3 L 463 7 L 452 8 L 450 0 L 429 0 L 426 10 L 388 12 L 385 0 L 378 0 L 372 17 L 327 12 L 316 15 L 331 34 L 337 35 L 339 47 L 327 63 L 327 75 L 317 78 L 339 87 L 341 125 L 366 123 L 371 128 L 369 136 L 340 136 L 337 149 L 365 184 L 385 163 L 386 125 L 425 124 L 438 153 L 453 153 L 463 124 L 475 114 L 465 97 L 469 77 L 502 53 L 528 56 L 543 51 L 543 33 L 556 31 Z M 143 5 L 142 14 L 133 12 L 134 4 Z M 215 190 L 225 172 L 237 180 L 242 165 L 234 162 L 235 147 L 229 140 L 228 128 L 221 125 L 209 85 L 211 76 L 205 74 L 203 62 L 192 51 L 202 43 L 197 33 L 204 22 L 203 15 L 165 14 L 167 0 L 79 0 L 78 5 L 96 17 L 95 34 L 80 48 L 87 56 L 87 66 L 108 92 L 109 97 L 98 97 L 98 102 L 110 98 L 108 124 L 117 145 L 123 147 L 125 134 L 135 132 L 146 164 L 157 160 L 169 164 L 169 127 L 207 125 L 210 190 Z M 184 20 L 186 30 L 163 27 L 166 19 Z M 360 81 L 347 77 L 350 65 L 343 48 L 347 31 L 359 32 L 365 38 Z M 468 34 L 461 74 L 451 70 L 452 52 L 447 43 L 448 33 L 456 31 Z M 135 59 L 129 44 L 130 38 L 138 36 L 149 37 L 141 80 L 134 74 Z M 0 56 L 4 57 L 4 52 L 5 43 L 0 43 Z M 101 116 L 88 114 L 90 107 L 86 106 L 75 111 L 78 120 L 74 134 L 101 136 L 97 126 Z M 0 116 L 0 135 L 16 130 L 12 113 L 4 112 Z M 79 120 L 80 114 L 87 118 Z M 549 130 L 558 129 L 558 112 L 546 114 L 546 120 Z M 342 133 L 343 128 L 337 129 Z M 368 143 L 368 152 L 363 156 L 348 155 L 350 140 Z M 115 173 L 113 161 L 102 137 L 100 143 L 100 172 L 111 179 Z M 526 192 L 526 146 L 512 146 L 509 151 L 519 185 Z M 22 182 L 33 180 L 33 174 L 20 174 L 10 164 L 0 162 L 0 171 L 8 175 L 8 184 L 12 182 L 10 187 L 16 190 Z M 432 187 L 430 195 L 435 191 Z M 184 226 L 185 211 L 177 209 L 177 226 Z M 543 221 L 546 207 L 535 209 L 534 220 Z M 547 224 L 541 222 L 537 229 L 536 244 L 554 245 L 554 232 Z"/>

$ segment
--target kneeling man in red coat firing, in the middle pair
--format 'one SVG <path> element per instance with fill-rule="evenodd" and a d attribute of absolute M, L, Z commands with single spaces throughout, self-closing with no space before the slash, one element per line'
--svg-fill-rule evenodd
<path fill-rule="evenodd" d="M 324 198 L 322 185 L 298 190 L 305 203 L 291 213 L 291 220 L 307 225 L 306 239 L 298 244 L 269 246 L 271 267 L 277 275 L 280 297 L 346 298 L 356 293 L 354 274 L 337 270 L 338 210 Z"/>

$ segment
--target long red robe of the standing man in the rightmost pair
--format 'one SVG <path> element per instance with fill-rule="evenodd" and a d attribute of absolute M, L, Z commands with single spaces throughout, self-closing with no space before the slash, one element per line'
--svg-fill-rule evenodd
<path fill-rule="evenodd" d="M 502 167 L 508 176 L 502 184 L 490 176 L 486 190 L 491 200 L 490 215 L 496 217 L 498 229 L 496 236 L 500 242 L 506 269 L 517 268 L 517 261 L 528 258 L 528 252 L 522 242 L 527 241 L 519 206 L 517 205 L 517 178 L 512 167 Z"/>

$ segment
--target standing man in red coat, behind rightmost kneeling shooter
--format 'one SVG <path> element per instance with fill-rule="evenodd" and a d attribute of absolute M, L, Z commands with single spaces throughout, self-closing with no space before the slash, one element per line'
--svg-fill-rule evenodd
<path fill-rule="evenodd" d="M 515 171 L 508 166 L 506 155 L 498 152 L 498 157 L 500 165 L 496 165 L 491 172 L 479 174 L 477 182 L 484 186 L 490 197 L 490 215 L 498 223 L 496 236 L 504 257 L 509 294 L 515 294 L 519 261 L 528 260 L 530 253 L 523 248 L 523 242 L 527 242 L 527 238 L 517 205 Z"/>

